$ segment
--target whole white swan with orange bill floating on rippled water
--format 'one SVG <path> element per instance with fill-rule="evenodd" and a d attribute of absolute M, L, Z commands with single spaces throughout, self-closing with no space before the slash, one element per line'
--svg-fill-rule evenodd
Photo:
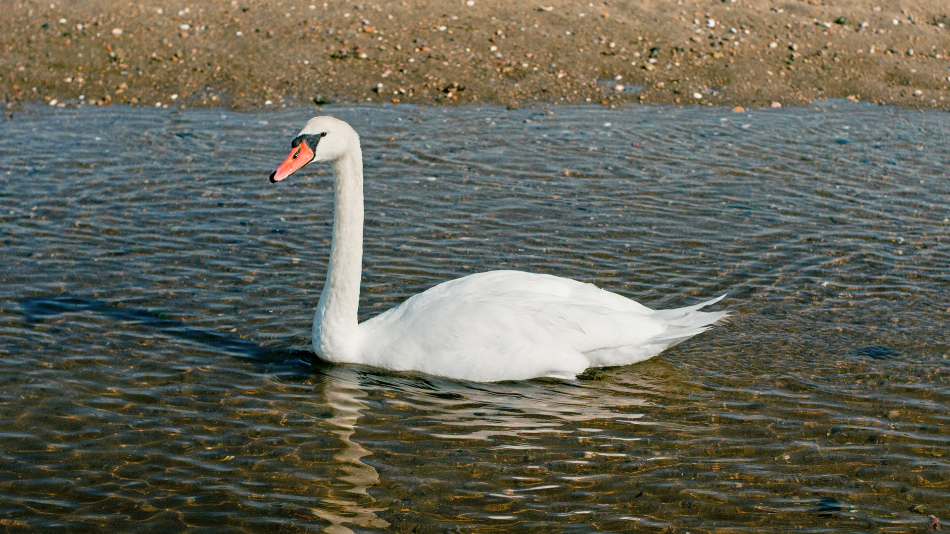
<path fill-rule="evenodd" d="M 652 310 L 593 284 L 521 271 L 443 282 L 357 324 L 363 257 L 363 155 L 350 124 L 314 117 L 271 174 L 333 162 L 335 208 L 327 278 L 314 316 L 324 360 L 478 382 L 574 378 L 588 367 L 650 358 L 711 327 L 726 312 L 706 302 Z"/>

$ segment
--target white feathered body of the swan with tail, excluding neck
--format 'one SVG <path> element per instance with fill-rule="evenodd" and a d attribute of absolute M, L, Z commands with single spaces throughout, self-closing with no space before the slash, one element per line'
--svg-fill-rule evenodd
<path fill-rule="evenodd" d="M 715 299 L 718 300 L 718 299 Z M 645 360 L 725 312 L 656 311 L 569 278 L 491 271 L 412 296 L 360 324 L 360 360 L 475 381 L 573 378 Z"/>

